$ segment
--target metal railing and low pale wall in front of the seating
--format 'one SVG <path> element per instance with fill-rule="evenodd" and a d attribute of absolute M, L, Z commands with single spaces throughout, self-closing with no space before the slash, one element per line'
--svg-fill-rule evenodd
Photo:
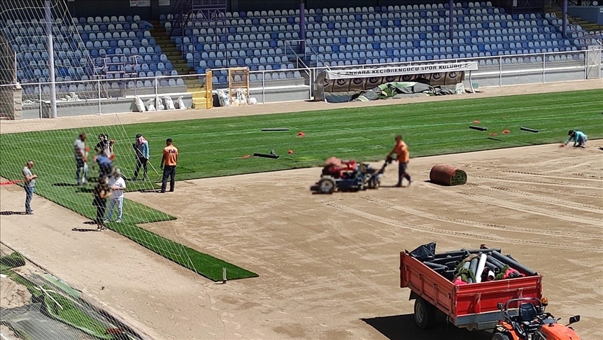
<path fill-rule="evenodd" d="M 579 50 L 571 52 L 551 52 L 527 55 L 502 55 L 493 57 L 474 57 L 464 59 L 443 59 L 420 62 L 380 63 L 344 66 L 300 67 L 287 70 L 250 71 L 250 97 L 257 97 L 258 103 L 276 101 L 313 99 L 314 82 L 318 74 L 327 69 L 366 69 L 387 66 L 411 66 L 416 64 L 441 64 L 446 62 L 477 61 L 479 70 L 468 75 L 465 83 L 478 83 L 481 87 L 520 85 L 530 83 L 552 83 L 563 80 L 586 80 L 589 70 L 601 70 L 601 60 L 589 64 L 589 53 L 601 50 Z M 598 54 L 597 54 L 598 55 Z M 213 73 L 221 73 L 227 69 L 213 69 Z M 299 72 L 296 78 L 290 77 Z M 597 71 L 603 76 L 603 71 Z M 306 75 L 306 77 L 304 77 Z M 190 81 L 196 78 L 198 85 L 194 88 L 204 91 L 205 74 L 160 76 L 147 78 L 122 78 L 79 80 L 57 82 L 57 112 L 64 115 L 92 115 L 130 111 L 135 97 L 144 100 L 162 99 L 163 97 L 183 96 L 191 100 L 192 92 L 187 88 Z M 182 81 L 178 81 L 181 79 Z M 170 81 L 172 80 L 172 81 Z M 193 83 L 197 83 L 193 82 Z M 46 107 L 50 101 L 51 83 L 26 83 L 22 87 L 24 110 L 36 112 L 28 118 L 45 118 Z M 141 86 L 142 85 L 142 86 Z M 0 85 L 1 87 L 15 87 Z M 68 89 L 66 87 L 71 87 Z M 227 89 L 227 84 L 214 84 L 213 92 Z M 73 90 L 64 92 L 63 90 Z M 73 95 L 75 94 L 75 96 Z M 67 98 L 69 96 L 69 98 Z M 3 109 L 0 103 L 0 110 Z"/>

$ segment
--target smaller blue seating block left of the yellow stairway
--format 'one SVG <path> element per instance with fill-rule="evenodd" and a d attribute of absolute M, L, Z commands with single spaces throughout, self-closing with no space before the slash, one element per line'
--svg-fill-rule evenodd
<path fill-rule="evenodd" d="M 56 81 L 121 79 L 147 76 L 178 76 L 171 62 L 152 38 L 152 24 L 139 17 L 80 17 L 73 22 L 57 19 L 52 25 L 55 40 Z M 48 81 L 43 20 L 6 20 L 3 33 L 17 52 L 17 79 L 22 84 Z M 180 78 L 164 80 L 164 86 L 183 85 Z M 129 81 L 127 88 L 152 87 L 152 83 Z M 146 84 L 146 85 L 145 85 Z M 119 88 L 113 82 L 111 88 Z M 57 92 L 76 91 L 87 85 L 61 85 Z M 34 90 L 33 87 L 29 90 Z"/>

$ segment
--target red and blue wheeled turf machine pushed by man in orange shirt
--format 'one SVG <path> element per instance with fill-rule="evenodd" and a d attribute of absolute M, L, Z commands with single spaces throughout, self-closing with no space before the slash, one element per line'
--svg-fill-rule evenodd
<path fill-rule="evenodd" d="M 392 162 L 385 160 L 383 167 L 377 170 L 370 164 L 357 164 L 356 161 L 340 161 L 332 157 L 325 162 L 322 176 L 315 185 L 310 187 L 312 192 L 332 194 L 335 191 L 361 191 L 376 189 L 381 184 L 381 176 L 385 167 Z"/>

